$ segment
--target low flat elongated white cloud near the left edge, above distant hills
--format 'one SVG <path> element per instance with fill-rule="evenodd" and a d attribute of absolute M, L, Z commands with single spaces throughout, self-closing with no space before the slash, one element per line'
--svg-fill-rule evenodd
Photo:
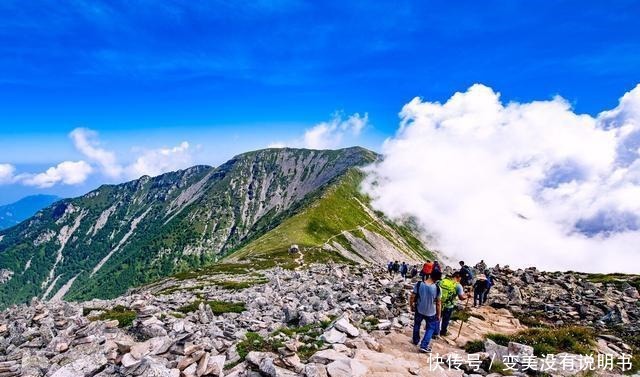
<path fill-rule="evenodd" d="M 64 161 L 50 167 L 44 173 L 22 174 L 18 178 L 25 185 L 47 188 L 57 183 L 66 185 L 83 183 L 92 171 L 91 165 L 85 161 Z"/>

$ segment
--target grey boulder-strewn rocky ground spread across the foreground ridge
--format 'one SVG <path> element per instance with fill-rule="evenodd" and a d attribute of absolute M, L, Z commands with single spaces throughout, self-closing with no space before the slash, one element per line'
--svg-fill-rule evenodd
<path fill-rule="evenodd" d="M 460 322 L 452 322 L 450 335 L 434 341 L 432 356 L 445 363 L 484 363 L 506 354 L 535 360 L 532 347 L 484 339 L 524 329 L 522 313 L 548 323 L 590 324 L 601 333 L 620 324 L 637 329 L 638 292 L 628 284 L 535 269 L 495 273 L 491 306 L 471 309 L 457 339 Z M 466 364 L 434 368 L 417 352 L 407 308 L 412 285 L 376 267 L 253 271 L 236 264 L 113 300 L 34 300 L 0 313 L 0 377 L 498 376 Z M 467 354 L 469 341 L 480 341 L 484 351 Z M 631 350 L 612 335 L 599 337 L 596 346 L 616 354 Z"/>

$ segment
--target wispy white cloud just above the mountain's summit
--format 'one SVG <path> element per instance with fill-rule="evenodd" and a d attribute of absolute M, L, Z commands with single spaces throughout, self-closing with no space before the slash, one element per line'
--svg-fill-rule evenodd
<path fill-rule="evenodd" d="M 305 131 L 304 135 L 291 142 L 278 141 L 269 144 L 269 148 L 301 147 L 310 149 L 335 149 L 354 142 L 369 124 L 369 115 L 358 113 L 343 119 L 337 113 L 328 122 L 318 123 Z"/>

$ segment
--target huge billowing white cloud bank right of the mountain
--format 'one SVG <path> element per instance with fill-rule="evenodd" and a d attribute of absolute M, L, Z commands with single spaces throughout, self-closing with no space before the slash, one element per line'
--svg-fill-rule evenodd
<path fill-rule="evenodd" d="M 364 190 L 453 258 L 640 272 L 640 85 L 597 117 L 483 85 L 413 99 Z"/>

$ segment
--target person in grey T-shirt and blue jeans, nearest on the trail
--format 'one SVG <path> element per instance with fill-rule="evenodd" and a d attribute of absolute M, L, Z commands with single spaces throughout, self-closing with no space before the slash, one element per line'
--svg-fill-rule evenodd
<path fill-rule="evenodd" d="M 425 281 L 416 283 L 409 299 L 411 310 L 415 313 L 412 342 L 414 345 L 419 345 L 422 353 L 431 353 L 431 338 L 439 329 L 442 315 L 442 292 L 437 282 L 441 277 L 439 272 L 435 272 L 430 274 Z M 424 337 L 420 341 L 422 321 L 426 322 L 426 329 Z"/>

